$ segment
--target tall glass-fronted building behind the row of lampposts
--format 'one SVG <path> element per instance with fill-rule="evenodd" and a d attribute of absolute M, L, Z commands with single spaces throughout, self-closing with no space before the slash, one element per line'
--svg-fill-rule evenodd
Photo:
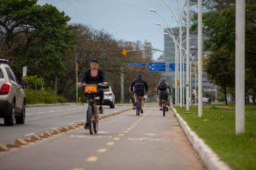
<path fill-rule="evenodd" d="M 186 28 L 183 27 L 182 30 L 185 30 Z M 175 40 L 177 40 L 178 36 L 180 35 L 180 30 L 179 28 L 172 28 L 172 30 L 170 28 L 167 28 L 168 31 L 170 31 L 170 33 L 172 33 L 175 36 Z M 168 31 L 165 30 L 165 33 L 168 33 Z M 168 65 L 169 68 L 169 64 L 172 63 L 173 65 L 175 64 L 175 42 L 173 42 L 173 39 L 169 36 L 165 34 L 165 51 L 167 52 L 171 52 L 170 53 L 165 53 L 164 54 L 164 59 L 166 64 Z M 186 30 L 183 31 L 182 34 L 182 47 L 183 48 L 187 48 L 187 41 L 186 41 L 187 35 L 186 35 Z M 207 37 L 203 36 L 203 41 L 207 39 Z M 179 40 L 178 40 L 179 43 Z M 194 56 L 194 58 L 197 60 L 197 34 L 190 34 L 190 54 Z M 203 55 L 207 55 L 209 54 L 209 52 L 202 52 Z M 186 64 L 186 58 L 187 55 L 185 54 L 185 50 L 182 50 L 182 55 L 183 55 L 183 59 L 184 59 L 184 64 Z M 185 65 L 186 68 L 189 68 Z M 192 62 L 192 71 L 195 69 L 195 65 Z M 186 71 L 184 71 L 184 77 L 186 79 Z M 170 84 L 172 84 L 172 87 L 175 87 L 175 70 L 172 69 L 172 71 L 169 69 L 168 72 L 166 72 L 166 78 L 168 79 L 168 81 L 170 82 Z M 185 84 L 185 79 L 183 81 L 183 84 Z M 192 72 L 192 89 L 195 89 L 195 76 L 194 76 L 194 72 Z M 184 86 L 185 87 L 185 86 Z M 214 84 L 212 84 L 211 82 L 209 82 L 207 80 L 207 75 L 204 73 L 203 77 L 202 77 L 202 88 L 203 91 L 214 91 L 215 86 Z"/>

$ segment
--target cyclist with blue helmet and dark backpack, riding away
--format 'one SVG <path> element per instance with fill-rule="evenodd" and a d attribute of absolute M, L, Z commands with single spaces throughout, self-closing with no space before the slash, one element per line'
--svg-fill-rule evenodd
<path fill-rule="evenodd" d="M 160 107 L 160 110 L 162 110 L 162 99 L 165 98 L 166 99 L 166 106 L 169 105 L 169 101 L 168 101 L 168 91 L 171 94 L 172 93 L 172 89 L 170 88 L 168 82 L 165 81 L 165 78 L 161 78 L 160 82 L 158 82 L 158 86 L 156 89 L 156 95 L 159 96 L 159 100 L 158 100 L 158 104 Z M 166 108 L 168 111 L 168 107 Z"/>

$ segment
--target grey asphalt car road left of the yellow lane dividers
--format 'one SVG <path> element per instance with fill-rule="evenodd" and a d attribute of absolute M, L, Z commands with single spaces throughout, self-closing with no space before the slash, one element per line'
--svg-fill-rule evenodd
<path fill-rule="evenodd" d="M 103 106 L 104 114 L 124 110 L 131 106 Z M 16 139 L 29 138 L 34 134 L 52 131 L 54 129 L 80 123 L 86 119 L 87 105 L 70 106 L 44 106 L 26 108 L 26 118 L 24 125 L 14 125 L 13 127 L 4 126 L 4 120 L 0 118 L 0 144 L 11 144 Z"/>

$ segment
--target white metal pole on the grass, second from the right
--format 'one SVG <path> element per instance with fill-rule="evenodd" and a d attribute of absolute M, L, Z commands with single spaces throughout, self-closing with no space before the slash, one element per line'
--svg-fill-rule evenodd
<path fill-rule="evenodd" d="M 198 0 L 198 116 L 202 117 L 202 0 Z"/>

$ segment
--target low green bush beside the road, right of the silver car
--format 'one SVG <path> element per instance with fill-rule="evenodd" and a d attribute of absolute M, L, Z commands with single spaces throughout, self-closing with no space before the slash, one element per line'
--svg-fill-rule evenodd
<path fill-rule="evenodd" d="M 66 98 L 62 96 L 55 96 L 52 91 L 47 90 L 32 90 L 32 89 L 25 89 L 26 94 L 26 104 L 52 104 L 52 103 L 67 103 Z"/>

